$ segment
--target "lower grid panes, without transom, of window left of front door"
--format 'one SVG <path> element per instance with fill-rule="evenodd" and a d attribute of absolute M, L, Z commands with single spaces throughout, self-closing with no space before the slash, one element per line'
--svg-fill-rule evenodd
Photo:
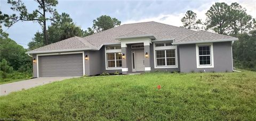
<path fill-rule="evenodd" d="M 122 67 L 122 53 L 107 53 L 107 67 Z"/>

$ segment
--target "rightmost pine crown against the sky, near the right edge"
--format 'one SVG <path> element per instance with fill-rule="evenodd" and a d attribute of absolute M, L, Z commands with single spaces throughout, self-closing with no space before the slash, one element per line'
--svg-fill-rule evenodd
<path fill-rule="evenodd" d="M 229 13 L 230 34 L 237 37 L 237 34 L 243 34 L 250 31 L 253 25 L 252 16 L 246 13 L 238 3 L 231 3 Z"/>

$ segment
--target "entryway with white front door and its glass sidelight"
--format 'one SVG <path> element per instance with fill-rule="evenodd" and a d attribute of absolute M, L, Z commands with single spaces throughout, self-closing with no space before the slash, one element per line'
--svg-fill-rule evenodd
<path fill-rule="evenodd" d="M 144 71 L 144 51 L 133 51 L 132 52 L 132 71 Z"/>

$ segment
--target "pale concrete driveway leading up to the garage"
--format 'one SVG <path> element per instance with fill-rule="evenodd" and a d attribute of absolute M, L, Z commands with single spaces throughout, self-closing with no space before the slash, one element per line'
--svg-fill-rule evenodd
<path fill-rule="evenodd" d="M 0 85 L 0 96 L 7 95 L 11 92 L 21 91 L 23 89 L 28 89 L 32 87 L 36 87 L 39 85 L 49 84 L 56 81 L 61 81 L 68 78 L 74 77 L 40 77 L 40 78 L 33 78 L 28 80 L 21 80 L 19 82 L 7 83 Z"/>

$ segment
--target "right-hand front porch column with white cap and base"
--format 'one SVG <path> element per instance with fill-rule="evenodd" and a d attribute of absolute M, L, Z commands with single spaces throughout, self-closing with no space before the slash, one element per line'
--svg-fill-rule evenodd
<path fill-rule="evenodd" d="M 147 54 L 147 56 L 146 56 Z M 151 71 L 150 66 L 150 43 L 144 43 L 145 72 Z"/>

